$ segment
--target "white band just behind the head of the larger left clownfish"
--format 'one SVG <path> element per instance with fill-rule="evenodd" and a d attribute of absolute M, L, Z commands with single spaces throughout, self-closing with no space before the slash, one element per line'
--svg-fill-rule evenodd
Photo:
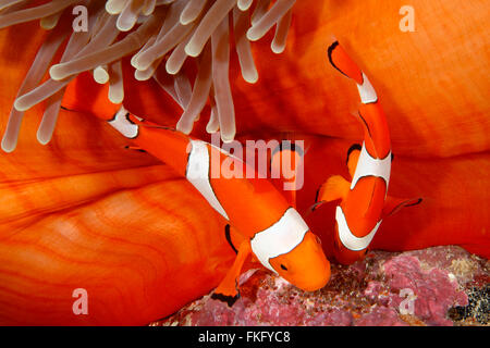
<path fill-rule="evenodd" d="M 293 208 L 287 208 L 277 223 L 252 238 L 252 251 L 264 266 L 278 274 L 269 260 L 296 248 L 308 229 L 299 213 Z"/>

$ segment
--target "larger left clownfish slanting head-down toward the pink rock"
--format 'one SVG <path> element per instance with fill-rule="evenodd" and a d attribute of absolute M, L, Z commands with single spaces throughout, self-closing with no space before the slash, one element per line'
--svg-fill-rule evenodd
<path fill-rule="evenodd" d="M 98 115 L 101 117 L 100 115 Z M 225 237 L 237 253 L 224 279 L 212 297 L 232 306 L 240 297 L 237 288 L 242 266 L 253 253 L 260 263 L 296 287 L 314 291 L 330 278 L 330 263 L 321 244 L 299 213 L 268 179 L 215 177 L 212 165 L 240 159 L 212 145 L 193 139 L 175 129 L 144 121 L 121 107 L 106 120 L 124 137 L 127 148 L 144 150 L 172 166 L 204 196 L 233 227 Z M 218 159 L 219 162 L 215 162 Z M 245 164 L 243 170 L 245 173 Z M 257 174 L 257 173 L 256 173 Z M 236 233 L 232 238 L 231 231 Z M 240 240 L 237 248 L 232 240 Z"/>

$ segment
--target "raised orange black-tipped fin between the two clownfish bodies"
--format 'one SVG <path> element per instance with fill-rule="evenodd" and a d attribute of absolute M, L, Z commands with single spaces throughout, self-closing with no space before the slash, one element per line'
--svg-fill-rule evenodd
<path fill-rule="evenodd" d="M 270 159 L 270 177 L 279 178 L 278 184 L 273 184 L 293 208 L 296 208 L 296 191 L 303 186 L 303 175 L 299 175 L 303 157 L 302 146 L 285 140 L 272 150 Z"/>

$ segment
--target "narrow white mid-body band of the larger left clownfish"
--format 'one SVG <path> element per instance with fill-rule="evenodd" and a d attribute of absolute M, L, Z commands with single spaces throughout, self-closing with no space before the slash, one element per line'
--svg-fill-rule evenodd
<path fill-rule="evenodd" d="M 209 182 L 209 149 L 207 144 L 200 140 L 191 140 L 191 146 L 185 173 L 187 181 L 193 184 L 217 212 L 224 219 L 230 220 Z"/>

